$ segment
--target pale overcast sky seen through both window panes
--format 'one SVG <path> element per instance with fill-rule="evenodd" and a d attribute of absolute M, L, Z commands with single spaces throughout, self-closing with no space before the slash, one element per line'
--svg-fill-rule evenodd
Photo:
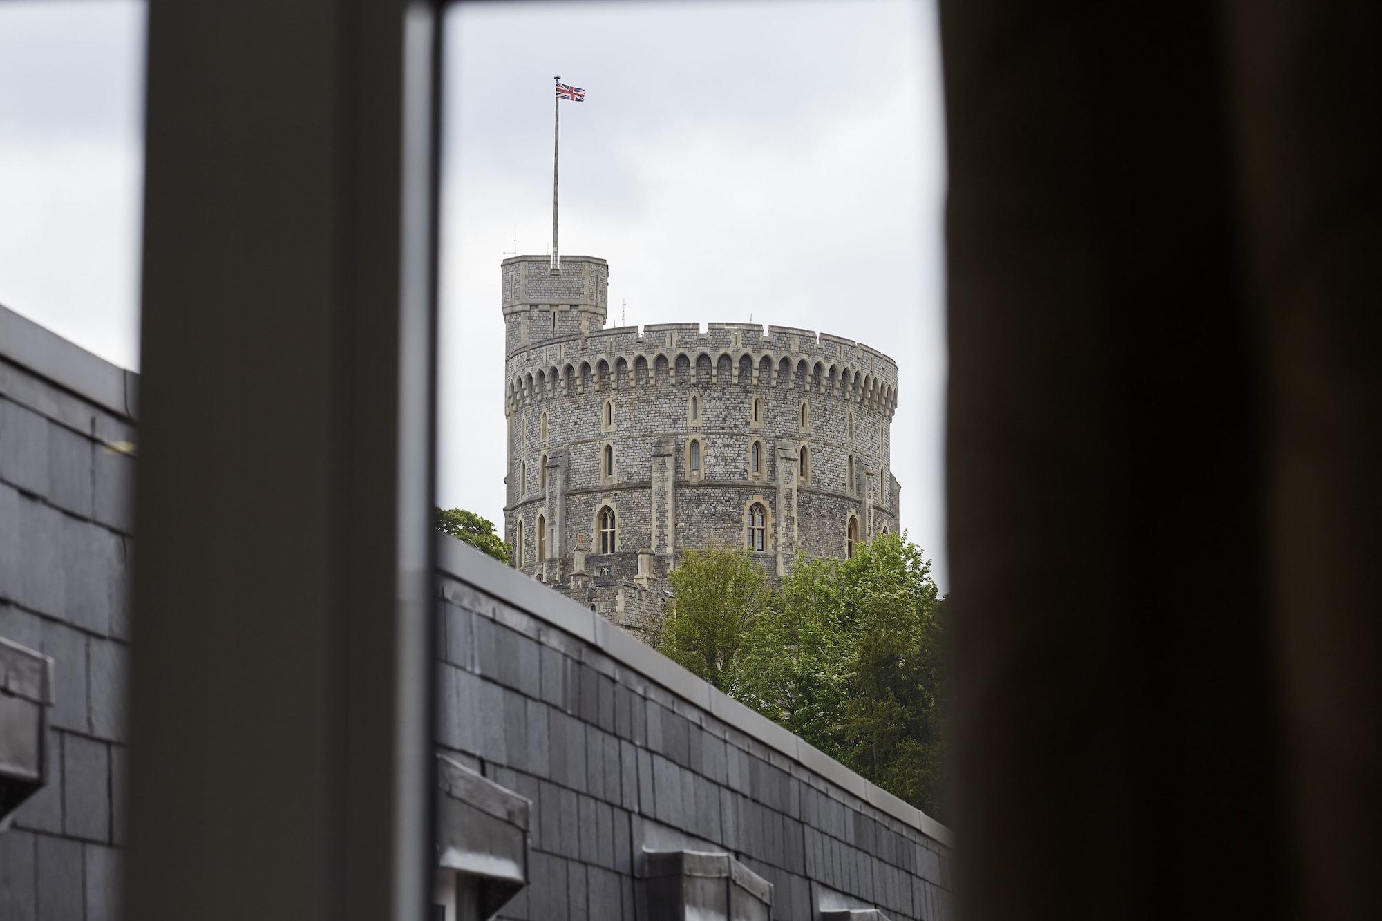
<path fill-rule="evenodd" d="M 911 0 L 452 7 L 438 501 L 503 519 L 499 261 L 609 260 L 609 325 L 752 319 L 900 369 L 902 527 L 944 553 L 944 145 Z M 0 303 L 138 366 L 144 7 L 0 3 Z M 195 306 L 189 306 L 195 308 Z"/>

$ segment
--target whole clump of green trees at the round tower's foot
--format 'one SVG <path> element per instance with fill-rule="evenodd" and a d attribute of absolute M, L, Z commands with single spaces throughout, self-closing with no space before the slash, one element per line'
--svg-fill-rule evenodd
<path fill-rule="evenodd" d="M 746 553 L 688 552 L 659 649 L 943 819 L 943 600 L 920 548 L 884 534 L 849 560 L 797 557 L 777 592 L 738 588 L 750 571 Z"/>

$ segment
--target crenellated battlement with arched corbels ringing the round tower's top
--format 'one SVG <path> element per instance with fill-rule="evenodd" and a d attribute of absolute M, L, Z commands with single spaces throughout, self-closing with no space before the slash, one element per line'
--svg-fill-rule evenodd
<path fill-rule="evenodd" d="M 510 408 L 622 387 L 748 382 L 853 400 L 891 416 L 897 362 L 862 343 L 795 326 L 650 324 L 568 333 L 514 348 Z"/>

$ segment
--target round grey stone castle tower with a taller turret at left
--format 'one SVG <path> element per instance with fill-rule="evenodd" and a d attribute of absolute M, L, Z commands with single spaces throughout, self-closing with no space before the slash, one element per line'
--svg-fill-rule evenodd
<path fill-rule="evenodd" d="M 677 555 L 741 546 L 773 577 L 897 528 L 897 364 L 752 324 L 605 329 L 603 259 L 502 263 L 513 564 L 641 631 Z"/>

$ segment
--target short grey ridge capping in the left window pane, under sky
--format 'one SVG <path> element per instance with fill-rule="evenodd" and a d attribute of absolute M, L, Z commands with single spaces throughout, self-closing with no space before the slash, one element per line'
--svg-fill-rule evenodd
<path fill-rule="evenodd" d="M 135 419 L 140 376 L 0 306 L 0 358 L 117 416 Z"/>

